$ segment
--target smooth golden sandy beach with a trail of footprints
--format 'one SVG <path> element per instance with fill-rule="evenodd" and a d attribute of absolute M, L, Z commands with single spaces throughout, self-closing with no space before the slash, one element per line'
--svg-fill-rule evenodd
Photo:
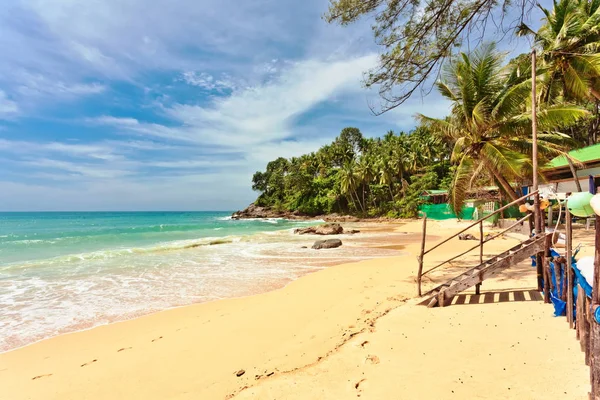
<path fill-rule="evenodd" d="M 458 228 L 430 223 L 428 244 Z M 421 222 L 394 229 L 416 233 Z M 589 369 L 575 331 L 541 301 L 527 262 L 485 281 L 481 296 L 467 292 L 455 298 L 460 304 L 427 309 L 412 300 L 417 236 L 385 242 L 382 232 L 373 243 L 402 246 L 398 257 L 336 265 L 268 293 L 0 354 L 0 399 L 587 398 Z M 578 241 L 589 254 L 585 233 Z M 485 253 L 516 243 L 499 238 Z M 426 262 L 472 245 L 452 241 Z"/>

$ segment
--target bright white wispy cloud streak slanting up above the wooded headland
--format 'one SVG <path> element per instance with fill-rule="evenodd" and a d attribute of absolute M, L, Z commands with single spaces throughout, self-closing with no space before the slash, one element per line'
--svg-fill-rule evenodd
<path fill-rule="evenodd" d="M 206 106 L 175 104 L 164 109 L 177 123 L 165 126 L 131 118 L 99 117 L 92 122 L 165 139 L 251 151 L 293 136 L 294 119 L 338 94 L 360 92 L 374 54 L 294 63 L 265 84 L 217 97 Z"/>

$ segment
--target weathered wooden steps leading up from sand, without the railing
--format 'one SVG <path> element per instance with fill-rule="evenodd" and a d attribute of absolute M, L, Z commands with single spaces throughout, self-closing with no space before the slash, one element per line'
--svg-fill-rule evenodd
<path fill-rule="evenodd" d="M 528 239 L 450 279 L 448 282 L 425 293 L 423 295 L 424 300 L 420 304 L 427 304 L 428 307 L 448 305 L 456 294 L 479 285 L 485 279 L 495 276 L 528 257 L 543 252 L 547 236 L 547 234 L 541 234 Z"/>

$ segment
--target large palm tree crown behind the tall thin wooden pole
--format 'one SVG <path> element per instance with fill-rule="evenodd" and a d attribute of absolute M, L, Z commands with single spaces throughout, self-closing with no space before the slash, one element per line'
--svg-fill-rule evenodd
<path fill-rule="evenodd" d="M 432 132 L 453 145 L 451 160 L 457 165 L 450 204 L 460 215 L 467 190 L 482 175 L 491 179 L 511 199 L 518 196 L 511 182 L 521 181 L 531 168 L 531 80 L 502 66 L 503 56 L 494 44 L 474 53 L 461 53 L 445 68 L 437 84 L 452 103 L 446 119 L 418 115 Z M 564 154 L 568 136 L 558 128 L 574 123 L 586 111 L 571 105 L 547 106 L 538 112 L 540 158 Z"/>

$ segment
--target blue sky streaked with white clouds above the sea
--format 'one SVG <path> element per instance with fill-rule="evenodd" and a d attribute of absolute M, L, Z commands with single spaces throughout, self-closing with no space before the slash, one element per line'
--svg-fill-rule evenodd
<path fill-rule="evenodd" d="M 382 136 L 410 130 L 415 113 L 447 114 L 433 92 L 373 115 L 372 21 L 329 25 L 326 9 L 3 1 L 0 211 L 233 211 L 255 199 L 251 177 L 270 160 L 347 126 Z"/>

